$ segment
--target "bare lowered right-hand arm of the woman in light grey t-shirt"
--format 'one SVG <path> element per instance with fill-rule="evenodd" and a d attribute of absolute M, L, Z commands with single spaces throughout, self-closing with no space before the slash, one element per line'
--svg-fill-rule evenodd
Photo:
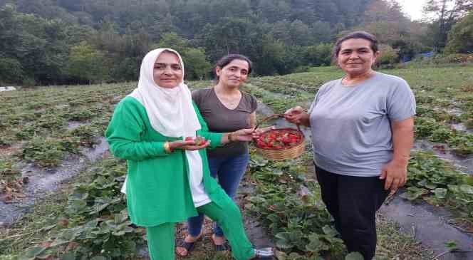
<path fill-rule="evenodd" d="M 393 160 L 383 167 L 380 179 L 385 179 L 385 189 L 395 192 L 407 181 L 407 164 L 409 163 L 410 149 L 414 143 L 414 118 L 392 120 L 393 132 Z"/>

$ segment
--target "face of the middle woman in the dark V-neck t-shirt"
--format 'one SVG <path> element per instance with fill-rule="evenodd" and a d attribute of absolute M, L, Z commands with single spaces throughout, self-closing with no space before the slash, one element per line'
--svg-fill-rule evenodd
<path fill-rule="evenodd" d="M 249 64 L 244 60 L 233 60 L 223 68 L 217 67 L 215 72 L 219 76 L 219 83 L 239 87 L 248 78 Z"/>

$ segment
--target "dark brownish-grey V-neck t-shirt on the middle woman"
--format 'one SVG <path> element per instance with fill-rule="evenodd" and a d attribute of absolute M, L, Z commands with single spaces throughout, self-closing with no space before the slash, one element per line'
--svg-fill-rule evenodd
<path fill-rule="evenodd" d="M 192 91 L 192 100 L 202 114 L 211 132 L 233 132 L 251 128 L 250 115 L 258 107 L 256 98 L 241 91 L 241 100 L 235 109 L 228 109 L 217 97 L 214 88 Z M 209 157 L 229 157 L 248 152 L 246 142 L 230 142 L 222 147 L 207 150 Z"/>

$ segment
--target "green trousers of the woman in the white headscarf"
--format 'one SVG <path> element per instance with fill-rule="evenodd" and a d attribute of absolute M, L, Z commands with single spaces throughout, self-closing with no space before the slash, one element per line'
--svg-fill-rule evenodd
<path fill-rule="evenodd" d="M 203 213 L 217 222 L 225 237 L 232 246 L 232 255 L 237 260 L 247 260 L 254 256 L 254 249 L 246 237 L 240 209 L 232 199 L 225 199 L 222 207 L 214 202 L 198 207 L 197 212 Z M 175 223 L 160 224 L 147 227 L 147 242 L 151 260 L 175 259 Z"/>

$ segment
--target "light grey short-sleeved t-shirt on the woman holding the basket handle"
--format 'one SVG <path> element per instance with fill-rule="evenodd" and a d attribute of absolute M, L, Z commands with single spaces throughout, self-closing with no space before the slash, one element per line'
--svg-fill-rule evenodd
<path fill-rule="evenodd" d="M 318 167 L 378 176 L 393 158 L 390 120 L 415 115 L 415 98 L 405 80 L 376 72 L 358 85 L 344 86 L 341 79 L 322 85 L 308 113 Z"/>

